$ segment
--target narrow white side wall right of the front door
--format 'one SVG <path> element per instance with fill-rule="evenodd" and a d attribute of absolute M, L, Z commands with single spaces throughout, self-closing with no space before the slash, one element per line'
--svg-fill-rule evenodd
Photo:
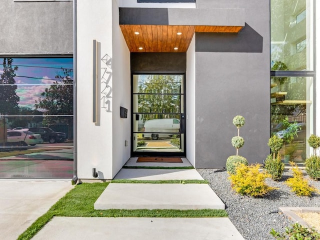
<path fill-rule="evenodd" d="M 195 37 L 186 52 L 186 157 L 195 165 Z"/>

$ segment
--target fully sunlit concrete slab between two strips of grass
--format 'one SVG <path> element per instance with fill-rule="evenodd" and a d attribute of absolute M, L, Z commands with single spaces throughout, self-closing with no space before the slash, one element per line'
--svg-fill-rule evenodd
<path fill-rule="evenodd" d="M 224 209 L 208 184 L 110 183 L 94 209 Z"/>

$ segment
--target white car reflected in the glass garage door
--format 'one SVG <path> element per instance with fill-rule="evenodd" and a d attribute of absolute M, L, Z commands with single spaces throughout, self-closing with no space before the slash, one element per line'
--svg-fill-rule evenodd
<path fill-rule="evenodd" d="M 40 134 L 34 134 L 28 130 L 11 130 L 6 133 L 7 142 L 10 145 L 16 144 L 19 146 L 34 146 L 43 142 Z"/>

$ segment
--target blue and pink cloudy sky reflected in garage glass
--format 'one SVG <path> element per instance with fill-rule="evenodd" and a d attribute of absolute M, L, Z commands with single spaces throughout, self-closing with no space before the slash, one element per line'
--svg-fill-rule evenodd
<path fill-rule="evenodd" d="M 0 74 L 3 72 L 3 58 L 0 58 Z M 56 81 L 55 76 L 62 68 L 73 69 L 73 59 L 63 58 L 13 58 L 12 66 L 17 66 L 14 77 L 19 106 L 34 108 L 35 100 Z M 73 73 L 71 75 L 73 77 Z"/>

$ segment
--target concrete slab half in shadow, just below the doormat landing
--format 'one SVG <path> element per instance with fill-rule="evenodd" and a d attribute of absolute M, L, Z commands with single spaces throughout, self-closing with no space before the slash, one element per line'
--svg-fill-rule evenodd
<path fill-rule="evenodd" d="M 195 169 L 146 169 L 146 168 L 122 168 L 113 179 L 135 180 L 203 180 Z"/>

